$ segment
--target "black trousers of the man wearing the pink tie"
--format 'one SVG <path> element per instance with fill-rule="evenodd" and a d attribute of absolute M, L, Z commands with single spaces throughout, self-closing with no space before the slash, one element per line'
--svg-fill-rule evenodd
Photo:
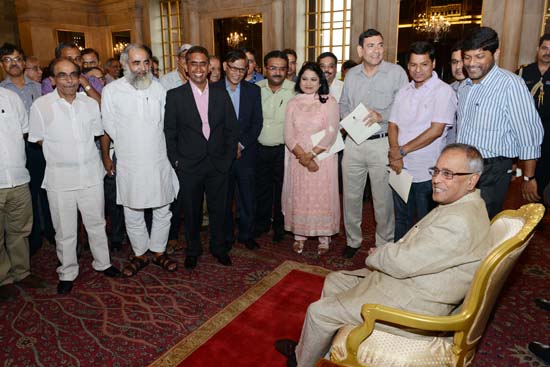
<path fill-rule="evenodd" d="M 225 255 L 230 248 L 226 245 L 224 218 L 227 202 L 227 179 L 229 172 L 218 171 L 209 158 L 193 170 L 178 170 L 180 201 L 183 208 L 187 256 L 200 256 L 202 245 L 200 230 L 202 224 L 202 202 L 206 193 L 208 220 L 210 225 L 210 252 L 214 256 Z"/>

